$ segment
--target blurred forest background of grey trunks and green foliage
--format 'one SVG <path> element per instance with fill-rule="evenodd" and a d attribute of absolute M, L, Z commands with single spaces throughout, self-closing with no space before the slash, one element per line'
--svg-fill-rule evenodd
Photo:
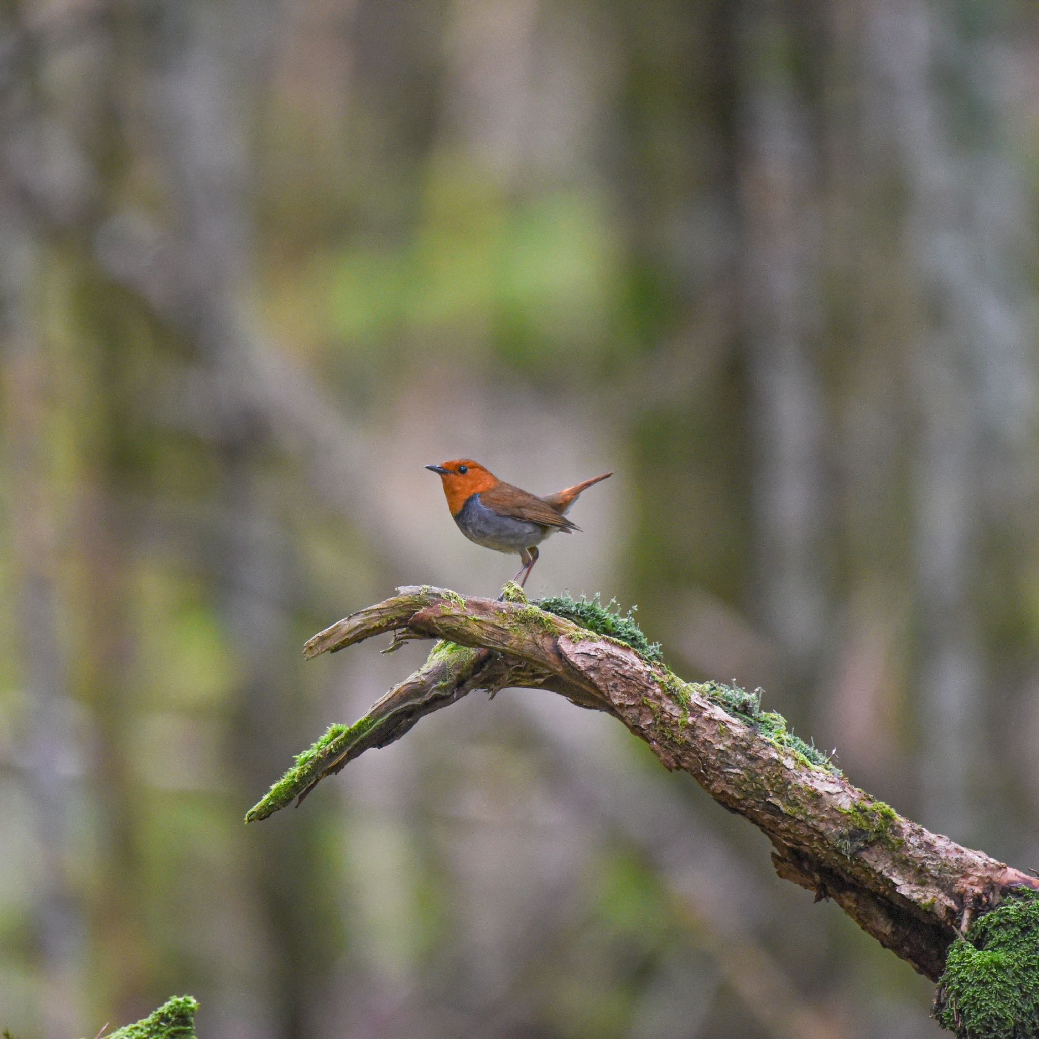
<path fill-rule="evenodd" d="M 242 816 L 495 593 L 423 465 L 612 469 L 616 595 L 1039 865 L 1024 0 L 0 0 L 0 1027 L 931 1036 L 931 986 L 605 716 L 473 696 Z"/>

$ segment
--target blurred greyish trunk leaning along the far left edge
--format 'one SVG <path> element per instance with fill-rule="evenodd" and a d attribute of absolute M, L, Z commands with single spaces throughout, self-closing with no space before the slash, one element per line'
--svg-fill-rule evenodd
<path fill-rule="evenodd" d="M 5 495 L 15 548 L 16 612 L 28 701 L 26 789 L 38 845 L 32 910 L 41 961 L 44 1039 L 68 1039 L 82 1020 L 82 909 L 71 880 L 70 772 L 80 748 L 55 591 L 55 523 L 50 487 L 55 394 L 45 334 L 32 300 L 44 273 L 41 248 L 0 191 L 0 357 L 3 361 Z"/>

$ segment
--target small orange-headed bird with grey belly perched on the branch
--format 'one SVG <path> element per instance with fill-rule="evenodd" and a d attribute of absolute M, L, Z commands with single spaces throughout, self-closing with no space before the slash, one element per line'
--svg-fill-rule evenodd
<path fill-rule="evenodd" d="M 541 541 L 556 531 L 569 534 L 581 529 L 566 518 L 581 491 L 613 476 L 604 473 L 538 498 L 504 483 L 472 458 L 455 458 L 426 469 L 439 474 L 451 515 L 471 541 L 495 552 L 518 553 L 523 566 L 514 580 L 521 587 L 537 562 Z"/>

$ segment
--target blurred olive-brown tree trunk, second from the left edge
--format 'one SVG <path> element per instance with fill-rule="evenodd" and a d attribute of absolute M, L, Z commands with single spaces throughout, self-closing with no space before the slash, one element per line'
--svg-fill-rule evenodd
<path fill-rule="evenodd" d="M 123 501 L 140 476 L 137 374 L 142 357 L 138 313 L 100 271 L 94 236 L 102 214 L 115 205 L 132 161 L 121 109 L 126 62 L 126 12 L 106 12 L 89 25 L 82 48 L 57 46 L 52 81 L 39 113 L 43 131 L 64 137 L 61 195 L 68 199 L 52 238 L 52 269 L 58 290 L 45 305 L 68 307 L 76 347 L 71 377 L 81 428 L 75 544 L 81 568 L 82 627 L 77 674 L 94 726 L 92 779 L 102 819 L 100 883 L 91 910 L 109 979 L 108 1006 L 135 1016 L 136 1000 L 149 985 L 155 959 L 145 932 L 146 889 L 140 847 L 139 776 L 133 750 L 135 720 L 134 568 L 136 530 Z M 75 30 L 74 30 L 75 31 Z M 46 57 L 46 51 L 45 57 Z M 43 157 L 51 145 L 42 149 Z M 49 203 L 53 205 L 54 195 Z M 45 218 L 46 219 L 46 218 Z"/>

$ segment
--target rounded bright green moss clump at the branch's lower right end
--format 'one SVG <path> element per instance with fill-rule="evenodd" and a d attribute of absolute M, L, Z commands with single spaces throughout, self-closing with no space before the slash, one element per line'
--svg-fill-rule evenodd
<path fill-rule="evenodd" d="M 1039 1035 L 1039 893 L 1011 896 L 949 947 L 934 1016 L 959 1039 Z"/>

